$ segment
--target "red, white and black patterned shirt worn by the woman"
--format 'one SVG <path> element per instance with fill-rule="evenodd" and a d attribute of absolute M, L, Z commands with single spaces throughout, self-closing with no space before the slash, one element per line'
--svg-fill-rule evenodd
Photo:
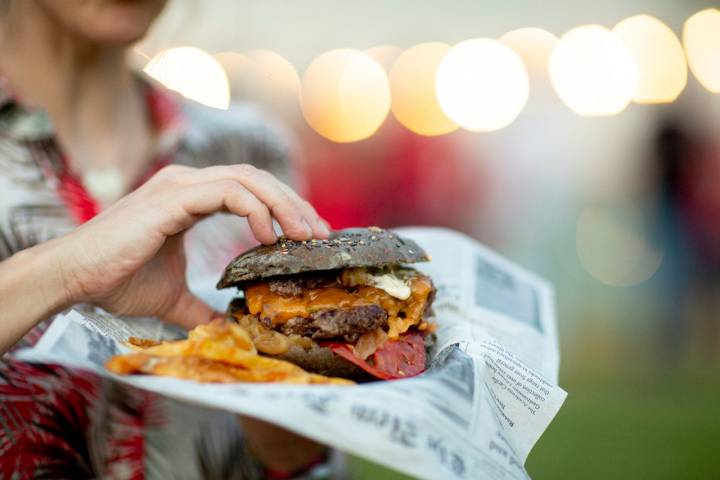
<path fill-rule="evenodd" d="M 140 183 L 169 163 L 252 163 L 289 180 L 283 144 L 256 112 L 213 110 L 141 81 L 158 142 Z M 45 112 L 23 105 L 0 78 L 0 261 L 69 232 L 98 213 L 98 205 Z M 217 235 L 218 228 L 226 233 Z M 217 272 L 252 243 L 244 224 L 207 229 L 213 248 L 189 249 L 191 272 Z M 189 240 L 202 244 L 203 227 L 194 230 Z M 37 342 L 50 322 L 17 347 Z M 26 364 L 11 354 L 0 359 L 0 479 L 225 479 L 259 472 L 230 414 L 88 372 Z"/>

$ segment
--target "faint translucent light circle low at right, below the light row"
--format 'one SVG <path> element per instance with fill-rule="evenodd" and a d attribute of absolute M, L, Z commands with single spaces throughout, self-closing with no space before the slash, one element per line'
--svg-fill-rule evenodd
<path fill-rule="evenodd" d="M 607 285 L 637 285 L 657 272 L 663 258 L 646 237 L 632 205 L 586 208 L 576 232 L 580 263 Z"/>

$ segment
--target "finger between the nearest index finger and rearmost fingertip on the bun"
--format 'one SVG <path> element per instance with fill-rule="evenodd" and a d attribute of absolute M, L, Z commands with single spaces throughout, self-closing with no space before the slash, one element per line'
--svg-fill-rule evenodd
<path fill-rule="evenodd" d="M 216 166 L 190 172 L 190 183 L 233 179 L 255 195 L 270 210 L 283 233 L 293 240 L 312 238 L 314 231 L 298 205 L 270 173 L 248 164 Z"/>

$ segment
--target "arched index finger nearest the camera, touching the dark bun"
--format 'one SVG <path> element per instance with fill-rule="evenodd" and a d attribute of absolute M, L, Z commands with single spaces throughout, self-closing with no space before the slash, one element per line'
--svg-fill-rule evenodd
<path fill-rule="evenodd" d="M 218 180 L 187 186 L 172 192 L 165 201 L 170 213 L 162 230 L 174 235 L 190 228 L 198 218 L 220 211 L 229 211 L 247 217 L 250 229 L 261 243 L 277 241 L 268 207 L 234 180 Z"/>

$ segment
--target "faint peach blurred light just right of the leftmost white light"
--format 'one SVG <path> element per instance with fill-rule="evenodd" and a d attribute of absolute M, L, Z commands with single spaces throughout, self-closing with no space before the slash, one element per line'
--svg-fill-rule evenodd
<path fill-rule="evenodd" d="M 223 52 L 214 57 L 227 73 L 234 100 L 252 98 L 285 112 L 296 107 L 300 77 L 281 55 L 270 50 L 251 50 L 245 54 Z"/>

